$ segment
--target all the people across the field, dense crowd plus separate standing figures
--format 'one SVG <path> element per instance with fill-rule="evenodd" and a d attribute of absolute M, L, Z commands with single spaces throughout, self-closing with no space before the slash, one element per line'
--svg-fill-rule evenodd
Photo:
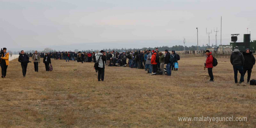
<path fill-rule="evenodd" d="M 24 53 L 22 50 L 19 53 L 18 61 L 21 63 L 23 77 L 26 76 L 26 68 L 29 62 L 29 57 L 32 58 L 34 63 L 35 72 L 38 72 L 38 63 L 40 63 L 40 58 L 43 58 L 43 63 L 45 64 L 45 69 L 49 72 L 49 65 L 51 65 L 51 58 L 54 60 L 66 60 L 69 62 L 73 60 L 75 62 L 94 62 L 98 63 L 98 81 L 104 81 L 104 68 L 106 66 L 122 66 L 130 68 L 144 69 L 149 74 L 162 74 L 171 76 L 172 70 L 178 71 L 179 55 L 175 51 L 169 52 L 167 49 L 162 52 L 155 50 L 146 49 L 144 51 L 135 50 L 135 51 L 122 51 L 121 53 L 117 51 L 103 51 L 98 52 L 48 52 L 48 53 Z M 208 74 L 211 82 L 214 81 L 213 76 L 213 56 L 209 50 L 205 51 L 206 61 L 205 68 L 208 69 Z M 6 48 L 3 48 L 3 54 L 1 54 L 1 70 L 2 78 L 6 77 L 7 67 L 9 65 L 9 53 L 6 53 Z M 128 61 L 128 63 L 127 63 Z M 250 76 L 252 72 L 253 65 L 255 64 L 255 58 L 250 49 L 246 49 L 241 53 L 238 47 L 234 48 L 230 56 L 230 63 L 233 65 L 234 69 L 234 80 L 235 83 L 244 82 L 244 75 L 247 72 L 247 83 L 250 81 Z M 164 68 L 166 65 L 166 68 Z M 153 72 L 153 73 L 152 73 Z M 240 80 L 237 80 L 238 72 L 241 74 Z"/>

